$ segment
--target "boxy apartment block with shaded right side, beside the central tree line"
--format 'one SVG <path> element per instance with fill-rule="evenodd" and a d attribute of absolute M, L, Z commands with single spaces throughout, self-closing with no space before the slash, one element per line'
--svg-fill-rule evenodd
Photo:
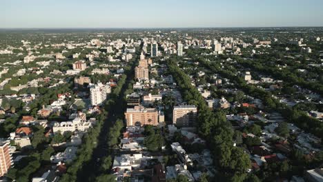
<path fill-rule="evenodd" d="M 179 105 L 173 109 L 173 123 L 178 127 L 193 127 L 197 119 L 195 105 Z"/>

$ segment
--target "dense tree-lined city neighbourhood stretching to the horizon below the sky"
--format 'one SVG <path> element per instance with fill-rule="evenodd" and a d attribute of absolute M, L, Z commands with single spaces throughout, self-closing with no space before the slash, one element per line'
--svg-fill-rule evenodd
<path fill-rule="evenodd" d="M 0 30 L 0 181 L 323 181 L 323 28 Z"/>

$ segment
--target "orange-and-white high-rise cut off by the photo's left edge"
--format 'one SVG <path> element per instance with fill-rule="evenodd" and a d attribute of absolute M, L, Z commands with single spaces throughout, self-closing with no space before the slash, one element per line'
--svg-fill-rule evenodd
<path fill-rule="evenodd" d="M 0 141 L 0 177 L 7 174 L 11 163 L 12 160 L 9 143 L 6 141 Z"/>

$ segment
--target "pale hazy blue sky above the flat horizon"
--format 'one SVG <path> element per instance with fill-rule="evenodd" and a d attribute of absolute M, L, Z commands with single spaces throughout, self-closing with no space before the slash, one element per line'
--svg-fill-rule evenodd
<path fill-rule="evenodd" d="M 323 26 L 323 0 L 1 0 L 0 28 Z"/>

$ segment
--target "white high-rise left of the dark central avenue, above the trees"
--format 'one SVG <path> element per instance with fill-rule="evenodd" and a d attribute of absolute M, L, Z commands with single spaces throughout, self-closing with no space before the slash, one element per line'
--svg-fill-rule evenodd
<path fill-rule="evenodd" d="M 110 85 L 104 85 L 101 82 L 90 84 L 90 100 L 92 105 L 101 105 L 106 101 L 106 94 L 111 92 Z"/>

